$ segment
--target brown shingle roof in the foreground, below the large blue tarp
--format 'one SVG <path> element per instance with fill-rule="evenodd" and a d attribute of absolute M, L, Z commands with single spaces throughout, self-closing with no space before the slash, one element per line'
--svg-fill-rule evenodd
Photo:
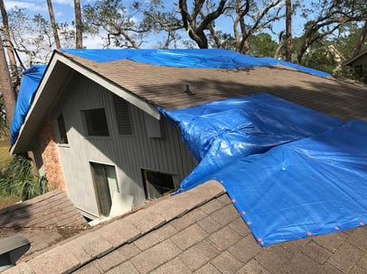
<path fill-rule="evenodd" d="M 9 273 L 367 273 L 367 227 L 262 248 L 215 181 L 165 197 Z"/>

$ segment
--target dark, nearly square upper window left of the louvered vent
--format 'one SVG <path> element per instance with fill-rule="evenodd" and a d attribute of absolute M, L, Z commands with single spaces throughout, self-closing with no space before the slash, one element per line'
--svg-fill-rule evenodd
<path fill-rule="evenodd" d="M 109 136 L 105 110 L 103 108 L 82 111 L 89 136 Z"/>

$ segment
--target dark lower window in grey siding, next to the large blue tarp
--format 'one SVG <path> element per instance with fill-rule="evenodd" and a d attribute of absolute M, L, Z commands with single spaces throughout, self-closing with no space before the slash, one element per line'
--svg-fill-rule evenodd
<path fill-rule="evenodd" d="M 174 190 L 172 174 L 143 170 L 146 199 L 155 199 Z"/>

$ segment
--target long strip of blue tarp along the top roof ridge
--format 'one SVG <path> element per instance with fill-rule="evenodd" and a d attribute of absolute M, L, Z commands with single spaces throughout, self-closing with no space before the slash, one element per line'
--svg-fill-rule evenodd
<path fill-rule="evenodd" d="M 264 57 L 257 58 L 221 49 L 190 50 L 63 50 L 72 55 L 98 62 L 130 59 L 140 63 L 176 68 L 249 68 L 283 65 L 296 68 L 320 77 L 330 77 L 329 73 L 314 68 L 306 68 L 284 60 Z"/>

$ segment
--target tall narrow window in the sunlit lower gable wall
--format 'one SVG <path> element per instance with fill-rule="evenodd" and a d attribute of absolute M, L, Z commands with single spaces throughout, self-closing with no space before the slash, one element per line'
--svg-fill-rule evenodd
<path fill-rule="evenodd" d="M 115 167 L 90 162 L 90 168 L 99 203 L 99 213 L 108 216 L 111 210 L 112 197 L 118 192 Z"/>

